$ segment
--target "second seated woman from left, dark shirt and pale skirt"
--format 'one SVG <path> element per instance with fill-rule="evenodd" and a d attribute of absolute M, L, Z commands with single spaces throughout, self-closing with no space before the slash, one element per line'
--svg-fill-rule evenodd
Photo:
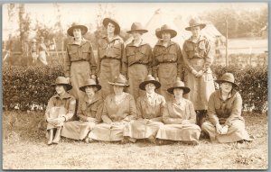
<path fill-rule="evenodd" d="M 87 79 L 84 86 L 79 90 L 85 92 L 82 99 L 79 99 L 79 109 L 77 116 L 79 121 L 66 122 L 63 126 L 61 136 L 73 140 L 85 140 L 89 142 L 89 131 L 91 131 L 98 122 L 101 122 L 101 112 L 103 100 L 98 90 L 101 86 L 94 79 Z M 92 141 L 92 140 L 90 140 Z"/>

